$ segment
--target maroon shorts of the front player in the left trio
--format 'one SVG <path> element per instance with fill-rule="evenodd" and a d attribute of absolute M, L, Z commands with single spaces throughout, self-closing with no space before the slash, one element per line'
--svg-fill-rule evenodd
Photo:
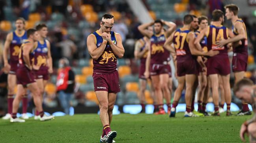
<path fill-rule="evenodd" d="M 30 71 L 27 67 L 24 65 L 21 65 L 17 71 L 17 84 L 22 84 L 24 87 L 26 87 L 28 84 L 36 82 L 35 75 L 33 71 Z"/>

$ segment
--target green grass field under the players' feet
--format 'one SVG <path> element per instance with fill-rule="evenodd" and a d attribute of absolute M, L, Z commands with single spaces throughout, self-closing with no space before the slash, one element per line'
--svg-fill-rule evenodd
<path fill-rule="evenodd" d="M 235 113 L 234 113 L 235 114 Z M 241 143 L 239 130 L 252 116 L 176 118 L 168 115 L 120 114 L 113 116 L 111 129 L 117 143 Z M 1 143 L 99 143 L 102 125 L 97 114 L 76 114 L 25 123 L 0 119 Z M 247 138 L 248 141 L 248 138 Z"/>

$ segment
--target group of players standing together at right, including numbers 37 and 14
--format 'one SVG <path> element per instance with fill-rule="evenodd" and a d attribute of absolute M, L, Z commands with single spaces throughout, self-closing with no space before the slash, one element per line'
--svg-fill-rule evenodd
<path fill-rule="evenodd" d="M 226 116 L 231 116 L 230 62 L 228 52 L 233 51 L 232 69 L 235 83 L 243 79 L 247 69 L 247 32 L 244 22 L 238 18 L 239 8 L 234 4 L 225 6 L 226 18 L 232 21 L 232 30 L 223 26 L 224 13 L 218 9 L 212 13 L 208 26 L 206 16 L 197 18 L 187 14 L 183 18 L 183 27 L 176 30 L 176 24 L 164 20 L 155 20 L 142 24 L 138 30 L 144 35 L 135 45 L 135 58 L 140 58 L 140 101 L 145 110 L 144 91 L 146 79 L 152 83 L 154 104 L 158 107 L 155 114 L 165 114 L 163 97 L 168 106 L 168 114 L 175 117 L 181 93 L 185 87 L 185 117 L 196 117 L 194 98 L 198 90 L 198 112 L 209 116 L 206 104 L 210 89 L 212 91 L 214 112 L 219 113 L 219 87 L 222 88 L 222 108 L 226 102 Z M 153 29 L 152 29 L 153 25 Z M 164 25 L 168 29 L 164 29 Z M 176 30 L 176 31 L 175 31 Z M 170 54 L 176 67 L 178 87 L 174 92 L 172 107 L 170 105 L 172 78 L 170 74 Z M 170 79 L 170 80 L 169 80 Z M 237 115 L 250 115 L 247 103 Z"/>

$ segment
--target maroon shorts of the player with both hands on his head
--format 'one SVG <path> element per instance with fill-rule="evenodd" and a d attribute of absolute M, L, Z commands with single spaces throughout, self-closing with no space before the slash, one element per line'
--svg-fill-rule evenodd
<path fill-rule="evenodd" d="M 153 63 L 150 64 L 150 76 L 156 76 L 159 74 L 169 74 L 169 69 L 168 67 L 170 67 L 170 65 L 164 65 L 164 64 L 157 64 L 157 63 Z"/>

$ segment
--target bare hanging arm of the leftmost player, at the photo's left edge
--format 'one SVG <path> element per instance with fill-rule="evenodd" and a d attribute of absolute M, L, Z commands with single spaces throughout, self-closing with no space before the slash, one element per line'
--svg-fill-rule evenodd
<path fill-rule="evenodd" d="M 12 38 L 13 38 L 13 34 L 9 33 L 9 34 L 7 34 L 6 41 L 4 42 L 3 58 L 4 58 L 4 67 L 7 71 L 9 71 L 9 69 L 10 69 L 10 65 L 8 63 L 8 52 L 9 52 Z"/>

